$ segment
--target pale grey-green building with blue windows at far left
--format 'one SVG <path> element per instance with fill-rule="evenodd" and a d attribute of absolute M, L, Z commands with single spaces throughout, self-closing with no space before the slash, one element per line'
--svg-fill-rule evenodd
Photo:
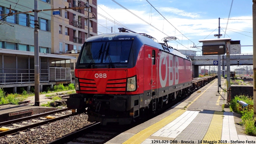
<path fill-rule="evenodd" d="M 34 9 L 34 0 L 0 1 L 0 14 L 27 12 Z M 47 0 L 38 0 L 38 9 L 51 9 Z M 50 67 L 52 61 L 76 59 L 75 57 L 51 54 L 52 12 L 38 13 L 40 90 L 54 84 L 71 83 L 70 68 Z M 2 19 L 2 20 L 1 20 Z M 0 88 L 17 92 L 21 87 L 29 90 L 34 86 L 34 13 L 0 16 Z M 68 74 L 69 72 L 69 74 Z"/>

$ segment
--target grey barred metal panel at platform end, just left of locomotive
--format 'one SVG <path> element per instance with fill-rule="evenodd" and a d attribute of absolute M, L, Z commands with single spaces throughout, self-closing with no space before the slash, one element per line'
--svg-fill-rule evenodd
<path fill-rule="evenodd" d="M 70 68 L 51 68 L 49 81 L 71 81 Z"/>

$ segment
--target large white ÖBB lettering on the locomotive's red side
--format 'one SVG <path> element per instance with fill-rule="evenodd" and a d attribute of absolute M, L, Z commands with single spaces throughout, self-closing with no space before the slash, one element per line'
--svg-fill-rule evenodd
<path fill-rule="evenodd" d="M 167 60 L 167 57 L 169 60 Z M 165 65 L 165 76 L 162 76 L 162 67 Z M 169 74 L 169 86 L 179 83 L 179 60 L 178 57 L 161 53 L 159 61 L 159 79 L 162 87 L 166 86 L 167 75 Z M 174 82 L 174 83 L 173 83 Z"/>

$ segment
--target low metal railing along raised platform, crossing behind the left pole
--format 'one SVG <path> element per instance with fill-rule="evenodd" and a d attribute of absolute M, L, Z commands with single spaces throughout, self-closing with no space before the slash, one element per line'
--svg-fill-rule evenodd
<path fill-rule="evenodd" d="M 40 73 L 40 82 L 49 82 L 48 73 Z M 34 83 L 34 73 L 0 73 L 0 84 Z"/>

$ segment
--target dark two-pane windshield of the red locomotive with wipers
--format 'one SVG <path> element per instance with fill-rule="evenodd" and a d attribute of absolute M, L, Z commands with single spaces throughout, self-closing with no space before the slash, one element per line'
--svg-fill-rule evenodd
<path fill-rule="evenodd" d="M 127 63 L 132 41 L 88 42 L 81 55 L 80 64 Z"/>

